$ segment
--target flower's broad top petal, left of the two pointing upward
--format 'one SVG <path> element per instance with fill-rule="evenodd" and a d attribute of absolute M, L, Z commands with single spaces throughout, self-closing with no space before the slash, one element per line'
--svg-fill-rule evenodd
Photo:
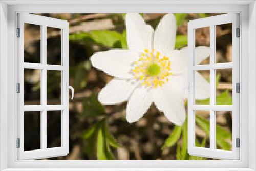
<path fill-rule="evenodd" d="M 154 30 L 150 25 L 146 25 L 139 14 L 126 14 L 125 25 L 126 39 L 130 50 L 143 51 L 144 49 L 152 49 Z"/>

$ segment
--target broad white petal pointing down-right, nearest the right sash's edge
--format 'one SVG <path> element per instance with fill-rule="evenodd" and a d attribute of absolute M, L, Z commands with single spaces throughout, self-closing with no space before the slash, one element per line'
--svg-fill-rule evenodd
<path fill-rule="evenodd" d="M 166 118 L 176 125 L 182 125 L 186 118 L 183 89 L 177 89 L 165 83 L 162 87 L 154 89 L 152 92 L 154 103 Z"/>

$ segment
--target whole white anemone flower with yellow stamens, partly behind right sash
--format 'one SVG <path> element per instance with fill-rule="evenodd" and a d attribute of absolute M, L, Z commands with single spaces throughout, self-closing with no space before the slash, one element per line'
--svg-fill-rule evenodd
<path fill-rule="evenodd" d="M 97 52 L 92 65 L 114 78 L 100 91 L 98 100 L 105 105 L 127 101 L 126 119 L 139 120 L 152 103 L 169 121 L 182 125 L 188 83 L 188 48 L 175 50 L 176 19 L 166 14 L 156 30 L 135 13 L 125 16 L 128 49 Z M 208 47 L 197 47 L 196 63 L 209 56 Z M 209 98 L 209 83 L 195 72 L 196 99 Z"/>

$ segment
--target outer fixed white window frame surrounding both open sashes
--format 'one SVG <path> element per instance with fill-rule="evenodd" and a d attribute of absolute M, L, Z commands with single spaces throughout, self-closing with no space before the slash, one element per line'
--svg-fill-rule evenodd
<path fill-rule="evenodd" d="M 0 170 L 256 170 L 255 1 L 30 1 L 0 2 Z M 222 161 L 19 161 L 16 160 L 16 14 L 29 13 L 226 13 L 241 14 L 240 159 Z M 8 35 L 6 34 L 8 32 Z M 250 35 L 250 36 L 248 36 Z M 249 93 L 250 92 L 250 93 Z M 8 130 L 8 132 L 6 131 Z M 248 136 L 250 134 L 250 136 Z M 249 150 L 248 150 L 249 149 Z M 23 169 L 22 169 L 23 168 Z M 111 169 L 112 168 L 112 169 Z M 114 168 L 114 169 L 113 169 Z M 134 168 L 134 169 L 133 169 Z M 95 169 L 94 169 L 95 170 Z"/>

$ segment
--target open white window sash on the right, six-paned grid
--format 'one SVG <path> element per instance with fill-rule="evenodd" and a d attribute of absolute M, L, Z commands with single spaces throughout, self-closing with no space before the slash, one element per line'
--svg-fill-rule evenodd
<path fill-rule="evenodd" d="M 216 63 L 216 26 L 222 24 L 232 24 L 232 62 Z M 209 64 L 198 65 L 195 63 L 195 30 L 209 27 L 210 37 L 210 56 Z M 211 16 L 201 19 L 194 19 L 188 22 L 188 153 L 195 156 L 213 157 L 217 159 L 239 159 L 239 95 L 236 91 L 236 85 L 239 84 L 239 42 L 240 42 L 239 14 L 229 13 L 217 16 Z M 232 70 L 232 105 L 216 105 L 216 70 Z M 195 104 L 195 72 L 200 70 L 209 71 L 210 76 L 210 104 Z M 197 147 L 195 145 L 195 126 L 196 111 L 209 111 L 210 135 L 209 148 Z M 232 112 L 232 149 L 230 151 L 216 148 L 216 111 Z"/>

